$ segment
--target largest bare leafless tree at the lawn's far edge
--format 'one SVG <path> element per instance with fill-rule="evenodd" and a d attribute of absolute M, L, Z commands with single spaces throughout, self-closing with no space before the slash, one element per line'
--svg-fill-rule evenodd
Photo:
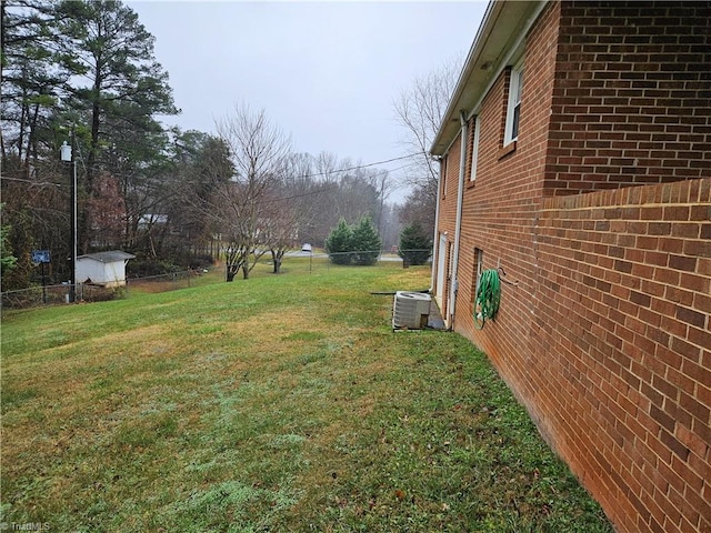
<path fill-rule="evenodd" d="M 217 189 L 212 215 L 228 239 L 227 281 L 240 270 L 248 279 L 269 249 L 263 247 L 270 232 L 266 205 L 283 172 L 291 140 L 269 121 L 263 109 L 252 112 L 239 105 L 217 125 L 230 149 L 236 175 Z"/>

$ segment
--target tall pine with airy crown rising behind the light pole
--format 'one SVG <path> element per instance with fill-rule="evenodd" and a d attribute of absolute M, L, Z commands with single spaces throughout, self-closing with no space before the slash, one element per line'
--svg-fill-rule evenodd
<path fill-rule="evenodd" d="M 136 153 L 162 135 L 154 114 L 176 114 L 168 73 L 153 54 L 154 38 L 129 7 L 118 1 L 63 0 L 58 4 L 64 36 L 61 66 L 72 72 L 70 105 L 86 118 L 87 173 L 79 197 L 91 199 L 101 167 L 111 171 L 106 147 L 116 147 L 123 160 L 147 161 Z M 156 155 L 148 154 L 149 157 Z M 126 174 L 124 169 L 118 174 Z M 126 189 L 126 184 L 122 183 Z M 90 221 L 80 212 L 79 247 L 87 251 Z"/>

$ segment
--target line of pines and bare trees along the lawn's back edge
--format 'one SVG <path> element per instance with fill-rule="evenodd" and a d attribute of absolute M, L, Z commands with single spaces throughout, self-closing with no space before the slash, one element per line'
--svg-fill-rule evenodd
<path fill-rule="evenodd" d="M 369 217 L 387 247 L 403 223 L 433 227 L 429 161 L 403 209 L 387 201 L 387 170 L 294 153 L 264 110 L 238 104 L 216 134 L 164 127 L 158 115 L 180 112 L 168 72 L 120 1 L 2 0 L 0 9 L 1 235 L 3 258 L 13 258 L 3 259 L 2 290 L 32 282 L 38 249 L 50 251 L 56 281 L 69 278 L 72 175 L 79 254 L 123 249 L 181 265 L 222 255 L 231 276 L 248 276 L 262 254 L 278 265 L 299 242 L 322 245 L 340 219 Z M 64 142 L 70 163 L 59 158 Z"/>

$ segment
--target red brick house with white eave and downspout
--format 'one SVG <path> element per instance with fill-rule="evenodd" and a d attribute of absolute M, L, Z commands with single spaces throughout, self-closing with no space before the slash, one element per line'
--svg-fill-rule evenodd
<path fill-rule="evenodd" d="M 445 324 L 618 531 L 711 531 L 711 2 L 492 2 L 431 152 Z"/>

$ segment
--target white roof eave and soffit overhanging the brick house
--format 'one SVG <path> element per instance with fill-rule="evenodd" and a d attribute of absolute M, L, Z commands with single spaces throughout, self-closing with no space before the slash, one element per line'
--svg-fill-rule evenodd
<path fill-rule="evenodd" d="M 432 155 L 443 155 L 447 152 L 459 133 L 460 113 L 472 111 L 545 3 L 547 0 L 489 2 L 430 148 Z"/>

